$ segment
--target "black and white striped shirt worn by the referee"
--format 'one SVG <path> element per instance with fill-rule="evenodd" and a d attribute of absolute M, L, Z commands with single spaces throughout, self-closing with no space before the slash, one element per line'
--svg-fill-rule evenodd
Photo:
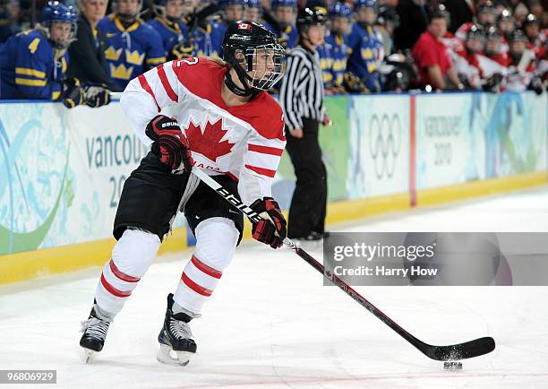
<path fill-rule="evenodd" d="M 304 117 L 323 120 L 323 77 L 317 52 L 297 46 L 287 56 L 279 102 L 290 130 L 303 128 Z"/>

